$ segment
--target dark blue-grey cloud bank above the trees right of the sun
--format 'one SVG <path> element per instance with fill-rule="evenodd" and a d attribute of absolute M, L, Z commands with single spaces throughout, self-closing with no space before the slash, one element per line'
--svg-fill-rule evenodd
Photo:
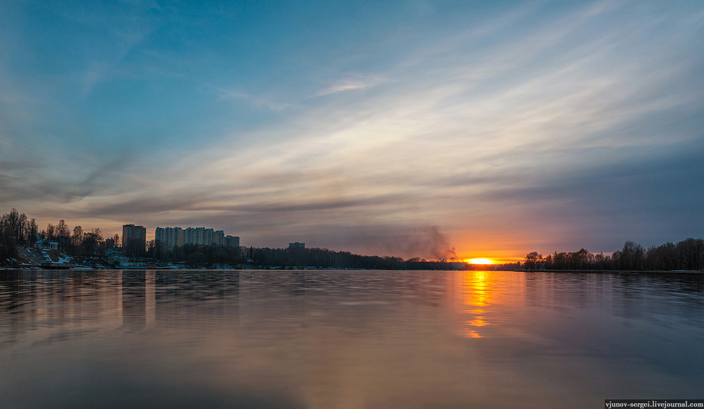
<path fill-rule="evenodd" d="M 698 237 L 704 179 L 701 142 L 653 149 L 595 168 L 524 177 L 475 196 L 480 207 L 515 203 L 516 220 L 543 253 L 614 251 L 626 240 L 650 246 Z M 555 231 L 555 230 L 559 231 Z"/>

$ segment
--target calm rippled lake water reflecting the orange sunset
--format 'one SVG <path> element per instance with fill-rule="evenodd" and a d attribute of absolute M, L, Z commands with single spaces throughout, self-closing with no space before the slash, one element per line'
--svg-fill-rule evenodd
<path fill-rule="evenodd" d="M 0 270 L 4 408 L 704 396 L 704 277 Z"/>

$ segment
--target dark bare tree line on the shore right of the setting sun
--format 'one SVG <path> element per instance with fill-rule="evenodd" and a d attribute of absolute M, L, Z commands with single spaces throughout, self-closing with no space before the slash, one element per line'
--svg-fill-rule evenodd
<path fill-rule="evenodd" d="M 704 239 L 684 239 L 647 249 L 626 241 L 621 250 L 610 256 L 593 254 L 584 248 L 570 253 L 542 254 L 532 251 L 525 256 L 526 270 L 704 270 Z"/>

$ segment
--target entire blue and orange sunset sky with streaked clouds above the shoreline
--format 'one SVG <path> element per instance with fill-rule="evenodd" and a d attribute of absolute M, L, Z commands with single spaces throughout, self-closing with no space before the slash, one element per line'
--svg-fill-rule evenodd
<path fill-rule="evenodd" d="M 520 260 L 704 236 L 701 1 L 0 1 L 0 212 Z"/>

